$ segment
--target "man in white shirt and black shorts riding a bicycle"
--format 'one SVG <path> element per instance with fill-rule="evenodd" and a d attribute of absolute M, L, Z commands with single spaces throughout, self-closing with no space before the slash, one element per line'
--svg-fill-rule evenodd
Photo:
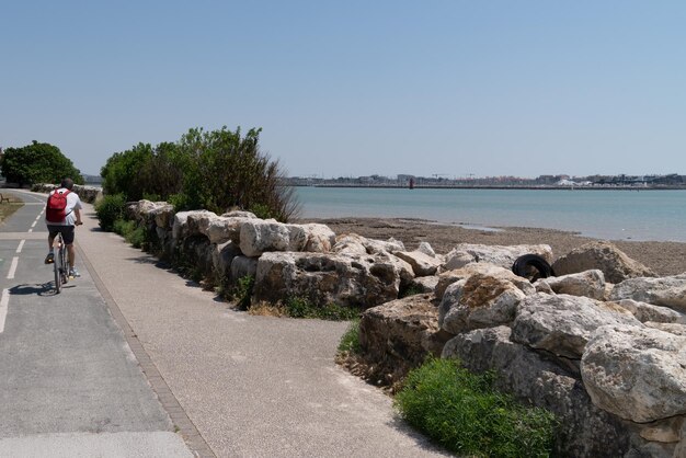
<path fill-rule="evenodd" d="M 47 238 L 47 244 L 49 252 L 45 257 L 46 264 L 52 264 L 55 262 L 55 251 L 53 249 L 53 241 L 55 237 L 57 237 L 58 232 L 61 232 L 62 239 L 65 240 L 65 245 L 67 245 L 67 253 L 69 253 L 69 276 L 79 277 L 81 276 L 79 272 L 73 266 L 76 261 L 76 250 L 73 248 L 73 238 L 75 238 L 75 227 L 80 226 L 81 222 L 81 198 L 79 195 L 71 190 L 73 188 L 73 180 L 64 179 L 57 190 L 50 191 L 50 196 L 53 194 L 58 193 L 66 197 L 66 207 L 64 208 L 64 218 L 61 220 L 55 221 L 49 220 L 48 210 L 50 205 L 50 197 L 48 197 L 48 205 L 46 207 L 45 213 L 45 222 L 47 224 L 47 230 L 49 232 Z"/>

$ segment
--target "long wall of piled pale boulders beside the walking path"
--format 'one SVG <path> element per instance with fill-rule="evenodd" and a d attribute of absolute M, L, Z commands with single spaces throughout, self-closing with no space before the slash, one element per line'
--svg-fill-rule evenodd
<path fill-rule="evenodd" d="M 140 201 L 129 215 L 170 260 L 230 287 L 255 278 L 253 301 L 306 297 L 358 307 L 365 358 L 392 383 L 426 355 L 495 370 L 501 389 L 554 412 L 556 456 L 684 457 L 686 273 L 650 271 L 608 243 L 568 256 L 564 275 L 514 275 L 514 260 L 548 245 L 423 243 L 333 233 L 249 213 L 174 214 Z M 599 254 L 598 254 L 599 253 Z M 606 280 L 611 275 L 615 283 Z M 421 295 L 400 298 L 409 288 Z"/>

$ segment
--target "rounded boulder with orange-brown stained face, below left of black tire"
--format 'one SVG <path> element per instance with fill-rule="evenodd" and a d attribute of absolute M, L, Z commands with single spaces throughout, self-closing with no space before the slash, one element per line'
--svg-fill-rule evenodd
<path fill-rule="evenodd" d="M 438 325 L 459 334 L 479 328 L 511 323 L 526 295 L 512 282 L 475 274 L 446 289 L 439 307 Z"/>

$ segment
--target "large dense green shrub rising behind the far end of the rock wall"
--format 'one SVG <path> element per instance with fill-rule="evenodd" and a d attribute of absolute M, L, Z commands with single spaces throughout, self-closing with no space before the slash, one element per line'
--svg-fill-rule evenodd
<path fill-rule="evenodd" d="M 107 160 L 103 190 L 127 201 L 153 195 L 176 210 L 239 208 L 287 221 L 299 210 L 294 191 L 283 185 L 278 162 L 260 151 L 259 137 L 260 129 L 242 136 L 240 128 L 196 128 L 175 144 L 138 144 Z"/>

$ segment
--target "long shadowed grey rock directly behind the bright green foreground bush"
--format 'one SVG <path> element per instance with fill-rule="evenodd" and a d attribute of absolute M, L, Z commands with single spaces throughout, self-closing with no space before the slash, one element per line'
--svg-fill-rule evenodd
<path fill-rule="evenodd" d="M 631 434 L 622 422 L 595 407 L 573 374 L 510 335 L 507 327 L 459 334 L 445 344 L 443 357 L 459 358 L 472 371 L 493 370 L 498 388 L 553 412 L 560 427 L 551 456 L 625 456 Z"/>

